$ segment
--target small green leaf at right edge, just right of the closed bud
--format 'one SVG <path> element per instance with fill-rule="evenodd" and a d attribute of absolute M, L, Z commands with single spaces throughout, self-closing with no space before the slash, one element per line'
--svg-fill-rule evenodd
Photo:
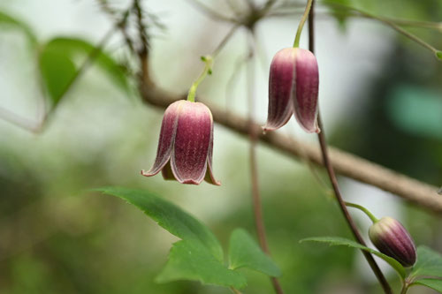
<path fill-rule="evenodd" d="M 433 275 L 442 277 L 442 255 L 426 246 L 417 247 L 417 260 L 411 276 Z"/>

